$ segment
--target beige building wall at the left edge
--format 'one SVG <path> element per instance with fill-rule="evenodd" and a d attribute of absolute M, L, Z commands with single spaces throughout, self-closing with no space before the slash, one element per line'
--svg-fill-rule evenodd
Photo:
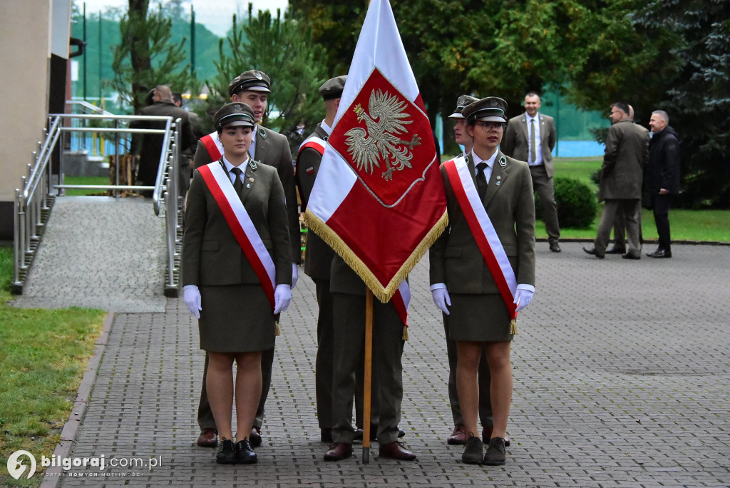
<path fill-rule="evenodd" d="M 65 44 L 68 58 L 70 6 L 71 0 L 0 1 L 0 240 L 12 240 L 15 188 L 43 137 L 52 46 L 55 53 Z"/>

